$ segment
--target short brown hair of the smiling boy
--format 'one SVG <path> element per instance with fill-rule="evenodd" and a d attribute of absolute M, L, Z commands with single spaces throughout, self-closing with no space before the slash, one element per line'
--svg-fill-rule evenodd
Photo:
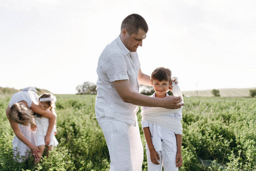
<path fill-rule="evenodd" d="M 167 80 L 170 82 L 172 80 L 172 71 L 169 68 L 158 67 L 151 74 L 151 80 Z"/>

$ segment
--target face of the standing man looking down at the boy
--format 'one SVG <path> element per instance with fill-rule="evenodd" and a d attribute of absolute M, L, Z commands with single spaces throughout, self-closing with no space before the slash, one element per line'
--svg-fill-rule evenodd
<path fill-rule="evenodd" d="M 137 48 L 139 46 L 142 46 L 143 39 L 145 39 L 147 36 L 147 32 L 141 29 L 139 29 L 138 34 L 132 34 L 131 36 L 128 34 L 126 30 L 122 31 L 121 34 L 123 36 L 122 42 L 130 52 L 136 52 Z"/>

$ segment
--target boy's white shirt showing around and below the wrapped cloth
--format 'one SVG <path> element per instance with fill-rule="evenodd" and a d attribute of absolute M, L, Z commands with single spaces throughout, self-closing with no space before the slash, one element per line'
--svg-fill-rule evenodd
<path fill-rule="evenodd" d="M 153 95 L 151 96 L 156 97 L 156 94 L 153 93 Z M 166 96 L 169 96 L 168 93 L 166 93 Z M 147 110 L 147 108 L 150 108 L 150 107 L 141 107 L 142 110 L 145 110 L 145 109 Z M 180 120 L 182 119 L 181 111 L 176 113 L 170 113 L 167 116 L 172 117 L 174 119 L 180 119 Z M 164 141 L 165 144 L 168 145 L 171 149 L 173 149 L 174 151 L 177 151 L 176 136 L 174 132 L 164 127 L 161 127 L 159 125 L 153 124 L 149 121 L 143 120 L 141 121 L 141 128 L 143 129 L 145 127 L 149 127 L 152 143 L 156 151 L 162 150 L 161 140 Z M 146 149 L 148 149 L 147 143 L 146 143 Z"/>

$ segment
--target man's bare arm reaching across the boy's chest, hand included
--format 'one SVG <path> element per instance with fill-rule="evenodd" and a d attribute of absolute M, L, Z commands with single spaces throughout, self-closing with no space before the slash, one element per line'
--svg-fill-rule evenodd
<path fill-rule="evenodd" d="M 168 109 L 177 109 L 184 105 L 183 103 L 180 104 L 182 101 L 181 97 L 166 96 L 164 98 L 155 98 L 137 93 L 131 89 L 129 80 L 119 80 L 112 82 L 112 84 L 121 99 L 127 103 L 145 107 L 163 107 Z"/>

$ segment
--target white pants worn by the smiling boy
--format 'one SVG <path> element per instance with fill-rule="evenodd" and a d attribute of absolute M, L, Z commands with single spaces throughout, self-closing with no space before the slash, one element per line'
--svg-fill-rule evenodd
<path fill-rule="evenodd" d="M 178 168 L 176 168 L 177 148 L 170 148 L 170 146 L 166 145 L 164 141 L 162 141 L 162 150 L 157 151 L 157 153 L 159 153 L 160 165 L 153 164 L 150 158 L 150 152 L 147 149 L 148 171 L 162 171 L 162 164 L 164 164 L 165 171 L 178 170 Z"/>

